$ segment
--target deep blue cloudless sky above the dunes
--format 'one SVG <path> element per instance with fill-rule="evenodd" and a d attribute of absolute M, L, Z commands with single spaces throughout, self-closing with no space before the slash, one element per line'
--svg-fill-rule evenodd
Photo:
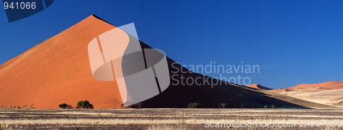
<path fill-rule="evenodd" d="M 343 1 L 338 0 L 58 0 L 13 23 L 1 9 L 0 64 L 91 14 L 117 26 L 135 23 L 140 40 L 180 64 L 259 64 L 259 74 L 239 75 L 270 88 L 343 81 Z"/>

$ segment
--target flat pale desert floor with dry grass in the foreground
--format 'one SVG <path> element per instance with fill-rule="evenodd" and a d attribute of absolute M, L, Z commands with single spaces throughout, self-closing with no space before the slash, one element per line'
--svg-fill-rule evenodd
<path fill-rule="evenodd" d="M 343 129 L 343 110 L 0 110 L 0 129 Z"/>

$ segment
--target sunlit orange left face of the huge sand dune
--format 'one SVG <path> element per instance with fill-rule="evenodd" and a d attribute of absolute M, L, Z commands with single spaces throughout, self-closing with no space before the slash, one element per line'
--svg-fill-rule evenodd
<path fill-rule="evenodd" d="M 91 75 L 88 43 L 113 25 L 88 16 L 60 34 L 45 40 L 0 66 L 0 105 L 58 108 L 60 103 L 88 100 L 95 108 L 121 105 L 113 81 Z"/>

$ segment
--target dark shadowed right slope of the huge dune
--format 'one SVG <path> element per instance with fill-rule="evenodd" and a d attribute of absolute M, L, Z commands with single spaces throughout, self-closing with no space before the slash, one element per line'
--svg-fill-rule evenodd
<path fill-rule="evenodd" d="M 141 42 L 142 48 L 151 48 L 147 44 Z M 330 105 L 322 105 L 302 99 L 296 99 L 284 94 L 278 94 L 267 90 L 250 88 L 228 83 L 218 79 L 211 79 L 205 75 L 193 73 L 187 68 L 184 68 L 174 60 L 167 57 L 169 64 L 169 75 L 171 77 L 171 85 L 167 90 L 154 96 L 151 99 L 143 101 L 144 107 L 187 107 L 189 103 L 201 103 L 202 107 L 219 107 L 219 103 L 226 103 L 226 107 L 246 107 L 246 108 L 262 108 L 264 105 L 275 105 L 279 108 L 329 108 L 335 109 Z M 187 72 L 187 73 L 185 73 Z M 181 84 L 185 79 L 197 79 L 200 81 L 200 86 L 196 83 Z M 204 81 L 216 83 L 216 86 L 210 86 Z M 222 84 L 220 84 L 222 82 Z M 199 83 L 199 82 L 198 82 Z"/>

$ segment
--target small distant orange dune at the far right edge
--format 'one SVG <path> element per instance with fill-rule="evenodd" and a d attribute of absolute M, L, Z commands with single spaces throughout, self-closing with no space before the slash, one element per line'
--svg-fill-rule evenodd
<path fill-rule="evenodd" d="M 324 83 L 314 83 L 314 84 L 306 84 L 302 83 L 297 86 L 293 86 L 289 88 L 290 90 L 296 91 L 321 91 L 321 90 L 335 90 L 343 88 L 343 81 L 328 81 Z"/>

